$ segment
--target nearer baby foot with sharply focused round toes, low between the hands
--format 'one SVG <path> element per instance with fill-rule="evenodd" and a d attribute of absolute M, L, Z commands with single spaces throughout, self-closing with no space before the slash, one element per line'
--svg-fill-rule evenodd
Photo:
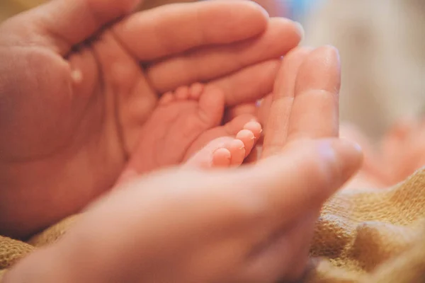
<path fill-rule="evenodd" d="M 259 122 L 247 122 L 236 137 L 218 137 L 210 141 L 203 149 L 188 159 L 186 166 L 214 168 L 239 166 L 249 155 L 261 136 Z M 205 133 L 209 135 L 210 133 Z M 195 145 L 196 146 L 196 145 Z"/>

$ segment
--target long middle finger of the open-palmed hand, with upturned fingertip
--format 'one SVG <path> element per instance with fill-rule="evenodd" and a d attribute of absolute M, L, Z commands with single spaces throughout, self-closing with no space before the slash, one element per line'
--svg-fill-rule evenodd
<path fill-rule="evenodd" d="M 196 81 L 209 81 L 268 59 L 277 59 L 297 46 L 302 31 L 293 21 L 272 18 L 259 37 L 229 45 L 208 46 L 171 57 L 147 69 L 159 92 Z M 170 74 L 173 74 L 170 76 Z"/>

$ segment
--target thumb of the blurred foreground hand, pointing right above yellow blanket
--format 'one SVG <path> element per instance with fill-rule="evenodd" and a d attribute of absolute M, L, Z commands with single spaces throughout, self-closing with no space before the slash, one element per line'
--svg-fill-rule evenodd
<path fill-rule="evenodd" d="M 306 209 L 319 209 L 358 171 L 362 161 L 361 149 L 347 140 L 297 141 L 283 154 L 229 176 L 227 182 L 243 180 L 245 185 L 237 187 L 246 200 L 280 226 Z"/>

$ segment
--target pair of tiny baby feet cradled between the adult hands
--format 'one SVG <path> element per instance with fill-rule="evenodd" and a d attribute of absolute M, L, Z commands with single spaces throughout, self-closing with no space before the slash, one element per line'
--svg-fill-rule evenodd
<path fill-rule="evenodd" d="M 140 141 L 123 176 L 158 168 L 239 166 L 261 136 L 253 115 L 239 115 L 222 125 L 225 94 L 195 83 L 164 93 L 142 127 Z"/>

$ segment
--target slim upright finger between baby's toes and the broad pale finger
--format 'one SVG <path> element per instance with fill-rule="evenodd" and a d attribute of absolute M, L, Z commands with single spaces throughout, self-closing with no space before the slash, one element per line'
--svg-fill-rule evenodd
<path fill-rule="evenodd" d="M 298 69 L 310 52 L 311 49 L 308 47 L 297 47 L 283 58 L 274 83 L 268 119 L 264 129 L 264 157 L 282 151 L 286 143 L 294 99 L 295 79 Z"/>

